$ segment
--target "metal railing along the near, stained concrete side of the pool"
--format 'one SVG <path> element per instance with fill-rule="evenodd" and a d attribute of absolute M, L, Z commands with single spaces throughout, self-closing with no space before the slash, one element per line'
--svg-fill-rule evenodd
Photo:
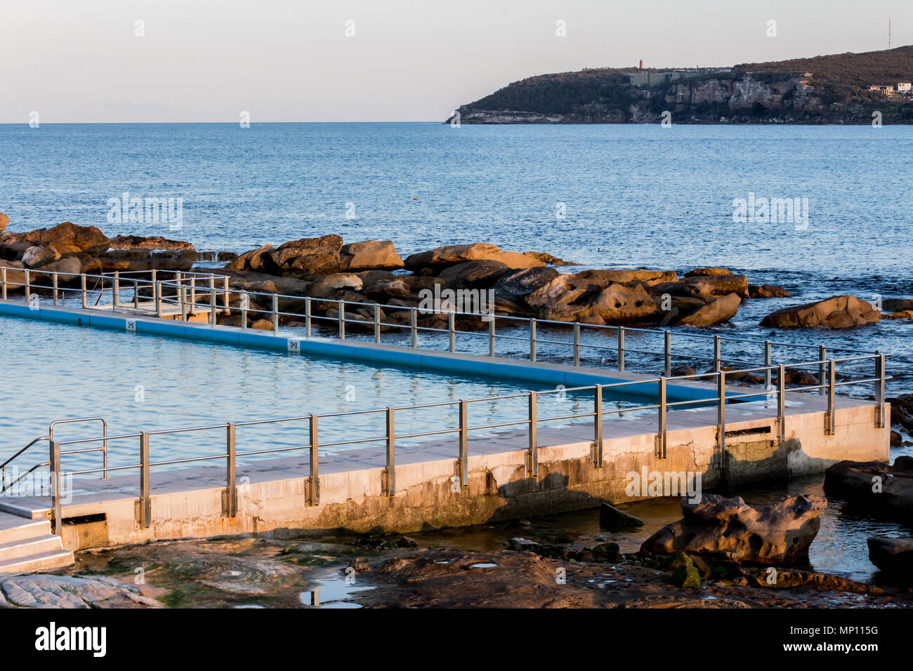
<path fill-rule="evenodd" d="M 869 361 L 875 364 L 875 374 L 871 377 L 866 377 L 863 379 L 851 379 L 844 380 L 842 382 L 837 382 L 836 380 L 836 369 L 837 364 L 839 363 L 848 363 L 848 362 L 858 362 L 858 361 Z M 785 429 L 785 414 L 786 414 L 786 395 L 788 393 L 810 393 L 816 392 L 820 389 L 824 389 L 824 392 L 827 396 L 826 403 L 826 412 L 824 413 L 824 425 L 823 431 L 824 435 L 834 435 L 835 432 L 835 397 L 837 389 L 847 385 L 859 385 L 859 384 L 873 384 L 874 385 L 874 397 L 876 403 L 876 414 L 875 414 L 875 425 L 876 427 L 884 427 L 884 389 L 885 389 L 885 355 L 878 354 L 874 357 L 853 357 L 847 359 L 834 360 L 830 359 L 824 362 L 821 361 L 812 361 L 812 362 L 800 362 L 793 364 L 797 368 L 803 367 L 817 367 L 824 365 L 828 374 L 827 382 L 822 384 L 807 384 L 801 385 L 799 387 L 789 388 L 787 386 L 786 377 L 787 369 L 784 365 L 779 364 L 772 367 L 757 367 L 752 369 L 745 369 L 743 371 L 737 372 L 712 372 L 712 373 L 698 373 L 694 375 L 680 375 L 675 377 L 656 377 L 649 378 L 644 380 L 632 380 L 624 381 L 618 383 L 606 383 L 606 384 L 594 384 L 589 386 L 574 387 L 570 389 L 556 388 L 553 390 L 540 391 L 540 392 L 526 392 L 526 393 L 512 393 L 501 396 L 485 396 L 471 399 L 460 399 L 456 401 L 445 401 L 434 404 L 417 404 L 417 405 L 406 405 L 401 407 L 386 407 L 386 408 L 373 408 L 370 410 L 361 410 L 361 411 L 350 411 L 350 412 L 340 412 L 340 413 L 325 413 L 325 414 L 303 414 L 296 417 L 286 417 L 281 419 L 267 419 L 267 420 L 257 420 L 250 422 L 237 422 L 232 423 L 228 422 L 225 424 L 216 424 L 208 426 L 191 426 L 191 427 L 182 427 L 175 429 L 163 429 L 156 431 L 143 431 L 138 433 L 123 434 L 123 435 L 108 435 L 107 430 L 105 430 L 103 435 L 94 436 L 89 438 L 77 438 L 70 440 L 54 440 L 52 438 L 52 432 L 48 431 L 47 436 L 42 438 L 37 438 L 29 446 L 33 445 L 37 441 L 42 439 L 47 439 L 49 442 L 49 459 L 46 462 L 32 467 L 27 471 L 31 473 L 37 467 L 49 466 L 51 470 L 51 508 L 52 516 L 55 520 L 62 520 L 62 503 L 61 503 L 61 492 L 59 489 L 61 474 L 65 473 L 69 477 L 76 476 L 85 476 L 91 474 L 101 473 L 101 477 L 108 477 L 108 473 L 111 471 L 129 471 L 129 470 L 138 470 L 139 471 L 139 496 L 136 504 L 136 519 L 137 523 L 143 527 L 148 528 L 152 523 L 152 504 L 151 504 L 151 485 L 150 485 L 150 473 L 153 467 L 165 467 L 165 466 L 176 466 L 197 462 L 207 462 L 213 460 L 226 460 L 226 488 L 223 493 L 223 513 L 227 517 L 235 517 L 237 511 L 237 485 L 236 485 L 236 467 L 237 459 L 239 457 L 252 457 L 252 456 L 264 456 L 264 455 L 274 455 L 281 454 L 286 452 L 294 452 L 301 450 L 308 450 L 310 454 L 310 471 L 307 479 L 307 491 L 306 498 L 310 506 L 320 505 L 320 476 L 319 476 L 319 467 L 320 467 L 320 450 L 326 450 L 329 448 L 339 448 L 344 446 L 360 446 L 363 444 L 377 444 L 382 443 L 385 447 L 385 466 L 383 467 L 382 472 L 382 482 L 381 489 L 383 495 L 387 497 L 394 497 L 396 494 L 396 479 L 395 479 L 395 466 L 396 466 L 396 456 L 395 449 L 397 441 L 405 439 L 415 439 L 420 437 L 427 436 L 444 436 L 444 435 L 456 435 L 457 436 L 457 446 L 456 446 L 456 464 L 455 464 L 455 483 L 458 483 L 459 488 L 466 488 L 468 484 L 468 439 L 470 432 L 474 431 L 490 431 L 492 429 L 503 429 L 503 428 L 514 428 L 514 427 L 523 427 L 526 429 L 528 435 L 528 446 L 526 450 L 525 458 L 525 474 L 527 477 L 538 477 L 539 474 L 539 427 L 544 423 L 553 423 L 553 422 L 574 422 L 576 420 L 586 420 L 592 422 L 593 426 L 593 441 L 591 442 L 591 452 L 590 452 L 590 464 L 591 467 L 602 467 L 604 463 L 603 456 L 603 423 L 604 421 L 614 415 L 614 414 L 624 414 L 624 413 L 645 413 L 646 411 L 656 411 L 656 436 L 655 436 L 655 453 L 654 456 L 657 459 L 666 458 L 666 450 L 668 443 L 668 413 L 674 412 L 676 410 L 684 409 L 685 406 L 695 406 L 699 408 L 710 408 L 716 407 L 716 426 L 717 426 L 717 443 L 714 446 L 714 456 L 712 461 L 712 466 L 715 468 L 724 468 L 726 466 L 726 410 L 728 404 L 733 402 L 760 402 L 764 401 L 766 405 L 775 404 L 776 405 L 776 414 L 775 414 L 775 426 L 776 432 L 773 436 L 773 440 L 776 444 L 780 444 L 786 440 L 786 429 Z M 750 387 L 741 387 L 736 390 L 732 389 L 730 386 L 727 387 L 727 380 L 733 374 L 743 374 L 743 373 L 757 373 L 770 371 L 775 373 L 776 384 L 771 386 L 769 389 L 755 389 Z M 684 401 L 669 401 L 667 397 L 668 383 L 670 382 L 684 382 L 684 381 L 700 381 L 707 380 L 711 378 L 715 383 L 715 388 L 717 391 L 716 396 Z M 636 385 L 645 385 L 647 394 L 652 394 L 652 387 L 656 388 L 656 402 L 637 405 L 634 407 L 618 407 L 606 409 L 603 407 L 604 394 L 606 390 L 610 392 L 614 389 L 620 390 L 622 387 L 632 387 Z M 628 392 L 630 390 L 624 390 Z M 570 414 L 557 414 L 551 416 L 540 416 L 539 410 L 539 401 L 540 398 L 548 396 L 553 393 L 578 393 L 578 394 L 592 394 L 592 410 L 583 413 L 570 413 Z M 519 419 L 510 419 L 509 421 L 497 422 L 493 424 L 483 424 L 475 425 L 470 422 L 469 418 L 469 407 L 470 404 L 477 404 L 483 402 L 493 402 L 493 401 L 503 401 L 507 399 L 517 399 L 517 398 L 526 398 L 527 399 L 527 413 L 526 416 L 520 417 Z M 404 411 L 416 411 L 416 410 L 425 410 L 429 408 L 456 408 L 457 412 L 457 426 L 456 428 L 444 428 L 436 429 L 432 431 L 422 431 L 422 432 L 413 432 L 405 434 L 397 434 L 395 430 L 395 418 L 397 414 Z M 329 442 L 320 442 L 319 440 L 319 427 L 326 420 L 333 417 L 358 417 L 363 419 L 367 415 L 377 415 L 383 414 L 385 419 L 385 431 L 383 435 L 377 435 L 368 438 L 353 438 L 349 440 L 335 440 Z M 76 421 L 98 421 L 99 418 L 87 418 L 84 420 L 71 420 L 71 422 Z M 248 426 L 262 426 L 262 425 L 280 425 L 293 422 L 305 422 L 308 423 L 307 430 L 307 440 L 303 441 L 296 446 L 288 447 L 274 447 L 269 449 L 257 449 L 249 451 L 237 451 L 236 449 L 236 436 L 239 428 L 244 428 Z M 60 424 L 55 423 L 55 424 Z M 53 426 L 53 425 L 52 425 Z M 151 438 L 153 436 L 173 436 L 173 435 L 186 435 L 194 434 L 205 431 L 212 430 L 225 430 L 226 431 L 226 442 L 225 450 L 218 454 L 205 455 L 205 456 L 188 456 L 180 459 L 169 459 L 163 461 L 152 461 L 151 453 Z M 124 440 L 138 440 L 138 462 L 129 463 L 125 465 L 109 466 L 107 463 L 107 447 L 110 442 L 114 441 L 124 441 Z M 91 444 L 97 444 L 101 442 L 102 447 L 85 447 Z M 64 447 L 71 446 L 75 447 L 73 449 L 64 449 Z M 23 454 L 28 446 L 20 450 L 16 455 L 7 459 L 5 464 L 3 464 L 4 472 L 7 464 L 15 459 L 17 456 Z M 100 468 L 83 468 L 79 470 L 64 471 L 61 460 L 65 456 L 74 456 L 80 454 L 86 454 L 90 452 L 102 451 L 105 462 Z M 21 479 L 21 478 L 19 478 Z M 5 480 L 4 480 L 5 482 Z M 13 483 L 11 483 L 13 484 Z M 8 486 L 5 486 L 8 488 Z M 59 524 L 56 523 L 55 529 L 58 529 L 59 533 Z"/>

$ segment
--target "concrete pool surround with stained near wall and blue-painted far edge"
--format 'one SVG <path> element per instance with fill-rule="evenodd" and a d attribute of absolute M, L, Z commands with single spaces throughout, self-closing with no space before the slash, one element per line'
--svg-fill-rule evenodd
<path fill-rule="evenodd" d="M 30 310 L 17 301 L 0 301 L 0 314 L 82 324 L 132 333 L 215 341 L 241 347 L 265 347 L 322 356 L 405 365 L 442 372 L 478 373 L 567 387 L 631 383 L 618 388 L 629 398 L 656 397 L 654 376 L 606 371 L 557 363 L 530 363 L 458 354 L 412 350 L 395 345 L 329 338 L 298 338 L 294 330 L 278 334 L 234 327 L 157 320 L 153 317 L 100 313 L 95 309 Z M 133 322 L 132 325 L 128 322 Z M 291 331 L 291 333 L 289 333 Z M 757 387 L 729 385 L 727 393 L 757 393 L 759 400 L 726 405 L 725 462 L 719 463 L 716 407 L 670 409 L 666 456 L 656 454 L 656 413 L 606 415 L 603 418 L 603 461 L 593 466 L 593 423 L 541 425 L 538 431 L 538 475 L 530 477 L 526 430 L 468 436 L 465 483 L 454 486 L 459 454 L 456 435 L 424 442 L 397 442 L 393 496 L 383 491 L 385 454 L 376 447 L 320 451 L 320 503 L 309 505 L 308 452 L 252 463 L 238 461 L 237 510 L 225 512 L 226 467 L 152 469 L 151 519 L 138 521 L 139 472 L 107 480 L 80 479 L 78 492 L 62 507 L 65 547 L 84 547 L 163 540 L 205 538 L 237 533 L 299 533 L 347 528 L 412 531 L 478 524 L 489 520 L 528 517 L 591 508 L 600 500 L 623 502 L 643 496 L 625 491 L 631 474 L 644 472 L 701 475 L 703 488 L 724 482 L 739 484 L 772 478 L 809 475 L 843 459 L 887 460 L 889 427 L 877 426 L 876 404 L 836 397 L 834 431 L 824 430 L 826 397 L 790 393 L 782 435 L 777 404 Z M 703 400 L 717 394 L 715 383 L 670 381 L 668 400 Z M 883 410 L 887 413 L 887 408 Z M 884 416 L 884 415 L 882 415 Z M 24 436 L 26 437 L 26 436 Z M 31 436 L 27 436 L 31 437 Z M 264 448 L 268 446 L 263 446 Z M 154 445 L 152 446 L 152 462 Z M 292 453 L 297 454 L 297 453 Z M 44 458 L 37 448 L 34 461 Z M 27 460 L 26 461 L 31 461 Z M 223 461 L 212 463 L 224 463 Z M 671 495 L 671 492 L 664 492 Z M 0 498 L 0 510 L 25 518 L 51 514 L 49 498 Z"/>

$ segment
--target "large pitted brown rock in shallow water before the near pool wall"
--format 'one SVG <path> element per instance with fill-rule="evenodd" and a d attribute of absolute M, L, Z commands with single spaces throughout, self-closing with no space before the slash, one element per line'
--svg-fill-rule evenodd
<path fill-rule="evenodd" d="M 821 497 L 784 497 L 750 505 L 740 497 L 708 494 L 698 503 L 682 498 L 683 519 L 667 524 L 644 541 L 642 554 L 688 552 L 731 561 L 792 564 L 808 558 L 827 506 Z"/>

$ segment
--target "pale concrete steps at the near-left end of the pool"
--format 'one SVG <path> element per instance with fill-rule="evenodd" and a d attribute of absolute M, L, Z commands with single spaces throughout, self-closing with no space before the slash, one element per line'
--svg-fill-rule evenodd
<path fill-rule="evenodd" d="M 50 520 L 0 512 L 0 574 L 48 571 L 72 563 L 73 553 L 51 533 Z"/>

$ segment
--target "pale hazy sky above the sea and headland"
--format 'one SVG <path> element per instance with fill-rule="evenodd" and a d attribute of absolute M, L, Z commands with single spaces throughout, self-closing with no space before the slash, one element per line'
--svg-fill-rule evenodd
<path fill-rule="evenodd" d="M 910 0 L 0 0 L 0 122 L 443 121 L 547 72 L 887 48 L 889 14 L 913 43 Z"/>

